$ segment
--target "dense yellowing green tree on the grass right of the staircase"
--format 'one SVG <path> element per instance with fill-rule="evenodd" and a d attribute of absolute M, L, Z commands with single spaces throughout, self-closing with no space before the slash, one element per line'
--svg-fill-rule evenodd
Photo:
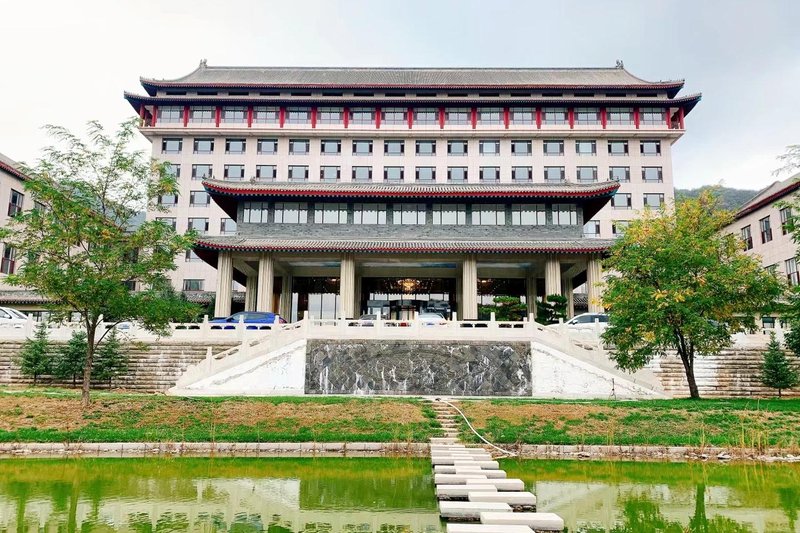
<path fill-rule="evenodd" d="M 617 366 L 635 371 L 674 350 L 699 398 L 696 357 L 730 346 L 733 333 L 754 327 L 781 297 L 784 283 L 725 232 L 732 221 L 705 192 L 645 210 L 614 243 L 605 261 L 603 339 Z"/>

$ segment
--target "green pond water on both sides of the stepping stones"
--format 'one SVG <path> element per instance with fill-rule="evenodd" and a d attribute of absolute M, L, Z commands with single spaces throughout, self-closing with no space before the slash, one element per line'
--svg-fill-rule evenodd
<path fill-rule="evenodd" d="M 571 532 L 799 532 L 800 465 L 505 461 Z M 0 532 L 439 532 L 429 460 L 0 460 Z"/>

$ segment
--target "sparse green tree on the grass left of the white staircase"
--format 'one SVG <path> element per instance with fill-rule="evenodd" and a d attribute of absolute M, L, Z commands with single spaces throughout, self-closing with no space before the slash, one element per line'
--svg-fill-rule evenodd
<path fill-rule="evenodd" d="M 167 334 L 170 320 L 197 314 L 165 290 L 166 274 L 193 235 L 178 235 L 159 221 L 137 223 L 139 213 L 163 209 L 157 199 L 177 195 L 178 185 L 166 163 L 131 149 L 135 121 L 115 133 L 90 122 L 87 139 L 61 127 L 47 130 L 56 144 L 35 165 L 23 166 L 36 208 L 14 217 L 0 238 L 27 254 L 10 283 L 46 296 L 54 313 L 80 316 L 87 336 L 82 400 L 88 405 L 95 350 L 109 331 L 99 329 L 103 317 Z"/>

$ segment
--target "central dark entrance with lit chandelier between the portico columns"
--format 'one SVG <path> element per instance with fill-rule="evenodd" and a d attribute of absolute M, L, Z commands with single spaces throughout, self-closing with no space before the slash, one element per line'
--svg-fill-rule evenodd
<path fill-rule="evenodd" d="M 454 278 L 361 278 L 361 314 L 407 320 L 419 313 L 457 312 Z"/>

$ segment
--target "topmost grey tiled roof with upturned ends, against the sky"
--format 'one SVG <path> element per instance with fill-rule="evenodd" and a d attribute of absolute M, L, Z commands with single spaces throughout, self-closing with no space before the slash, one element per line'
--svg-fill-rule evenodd
<path fill-rule="evenodd" d="M 151 95 L 170 88 L 296 89 L 631 89 L 666 90 L 674 96 L 683 80 L 646 81 L 612 68 L 361 68 L 232 67 L 205 61 L 180 78 L 141 78 Z"/>

